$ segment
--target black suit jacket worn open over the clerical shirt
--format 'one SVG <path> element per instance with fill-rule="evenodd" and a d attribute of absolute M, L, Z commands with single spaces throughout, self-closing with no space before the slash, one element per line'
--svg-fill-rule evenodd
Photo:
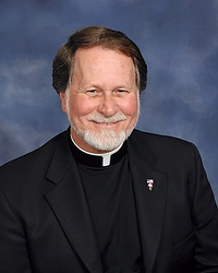
<path fill-rule="evenodd" d="M 0 168 L 1 273 L 104 272 L 68 134 Z M 218 272 L 218 211 L 196 147 L 136 130 L 126 143 L 146 273 Z"/>

